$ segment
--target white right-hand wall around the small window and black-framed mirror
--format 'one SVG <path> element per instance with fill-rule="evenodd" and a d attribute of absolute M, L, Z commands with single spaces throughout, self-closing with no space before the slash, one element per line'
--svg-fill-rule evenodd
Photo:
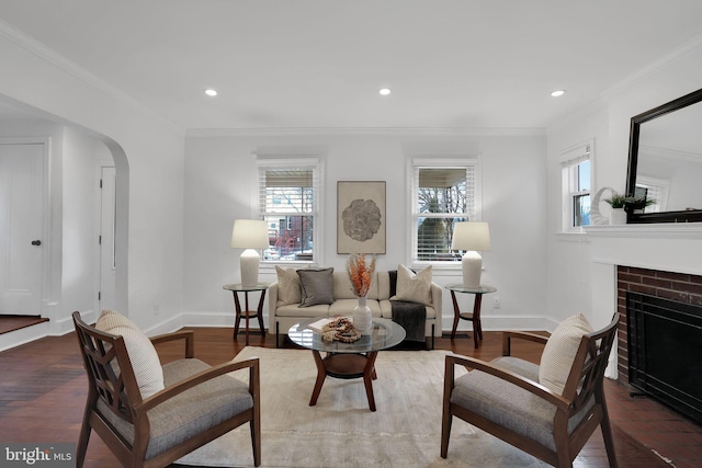
<path fill-rule="evenodd" d="M 657 107 L 702 88 L 702 48 L 672 54 L 669 59 L 660 60 L 627 83 L 618 87 L 612 95 L 602 98 L 589 111 L 566 119 L 548 128 L 548 190 L 547 190 L 547 251 L 548 251 L 548 308 L 551 315 L 564 319 L 581 311 L 589 317 L 611 317 L 615 304 L 609 297 L 602 301 L 598 297 L 601 288 L 592 282 L 600 282 L 601 271 L 593 265 L 591 239 L 588 235 L 558 235 L 561 230 L 561 165 L 559 152 L 573 145 L 593 138 L 596 160 L 593 165 L 595 186 L 592 193 L 602 186 L 611 186 L 620 193 L 626 189 L 626 169 L 629 160 L 629 136 L 631 117 Z M 602 214 L 608 206 L 602 203 Z M 653 229 L 653 227 L 649 227 Z M 643 232 L 643 233 L 642 233 Z M 635 236 L 646 236 L 646 227 Z M 655 236 L 652 235 L 652 238 Z M 626 236 L 619 241 L 627 242 Z M 701 241 L 699 250 L 702 250 Z M 655 244 L 655 242 L 654 242 Z M 675 243 L 667 255 L 683 258 L 688 243 Z M 683 248 L 682 246 L 686 246 Z M 605 282 L 613 282 L 607 274 Z M 611 286 L 611 284 L 610 284 Z M 598 310 L 592 310 L 597 307 Z M 601 309 L 608 310 L 601 310 Z M 600 320 L 601 321 L 601 320 Z"/>

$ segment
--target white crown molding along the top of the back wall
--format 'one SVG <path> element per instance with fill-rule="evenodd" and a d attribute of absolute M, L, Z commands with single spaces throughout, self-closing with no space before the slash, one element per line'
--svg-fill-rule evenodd
<path fill-rule="evenodd" d="M 191 128 L 185 137 L 251 136 L 545 136 L 545 128 L 428 128 L 428 127 L 271 127 L 271 128 Z"/>

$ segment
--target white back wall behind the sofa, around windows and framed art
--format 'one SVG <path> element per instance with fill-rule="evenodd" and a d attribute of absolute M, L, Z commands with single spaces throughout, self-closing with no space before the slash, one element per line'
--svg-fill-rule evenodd
<path fill-rule="evenodd" d="M 483 281 L 498 288 L 501 308 L 484 301 L 485 328 L 524 326 L 543 328 L 533 318 L 545 307 L 545 138 L 531 136 L 427 136 L 421 134 L 366 135 L 229 135 L 191 136 L 185 142 L 185 259 L 184 310 L 191 321 L 231 323 L 231 293 L 222 289 L 239 281 L 239 250 L 229 248 L 231 225 L 248 218 L 257 191 L 253 151 L 322 155 L 325 199 L 321 212 L 321 264 L 343 269 L 347 255 L 336 253 L 337 181 L 386 181 L 387 253 L 378 270 L 408 264 L 409 189 L 407 164 L 411 156 L 457 156 L 479 151 L 483 161 L 483 220 L 490 224 L 492 250 L 485 252 Z M 460 271 L 435 271 L 440 284 L 460 282 Z M 275 279 L 274 271 L 261 279 Z M 472 296 L 465 298 L 472 300 Z M 445 324 L 453 317 L 444 297 Z M 472 304 L 472 303 L 471 303 Z M 467 304 L 464 305 L 467 307 Z M 465 326 L 466 322 L 462 322 Z M 469 328 L 469 324 L 467 326 Z"/>

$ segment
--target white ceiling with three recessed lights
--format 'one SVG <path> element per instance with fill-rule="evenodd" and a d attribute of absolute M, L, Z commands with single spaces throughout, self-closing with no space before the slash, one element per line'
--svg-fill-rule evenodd
<path fill-rule="evenodd" d="M 544 128 L 700 42 L 702 1 L 2 0 L 0 27 L 182 129 Z"/>

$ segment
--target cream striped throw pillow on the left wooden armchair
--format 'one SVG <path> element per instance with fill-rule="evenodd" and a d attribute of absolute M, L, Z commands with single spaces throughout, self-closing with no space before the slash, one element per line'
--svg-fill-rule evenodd
<path fill-rule="evenodd" d="M 132 320 L 120 312 L 105 309 L 95 328 L 124 339 L 141 398 L 146 399 L 163 389 L 163 369 L 158 353 L 151 340 Z"/>

